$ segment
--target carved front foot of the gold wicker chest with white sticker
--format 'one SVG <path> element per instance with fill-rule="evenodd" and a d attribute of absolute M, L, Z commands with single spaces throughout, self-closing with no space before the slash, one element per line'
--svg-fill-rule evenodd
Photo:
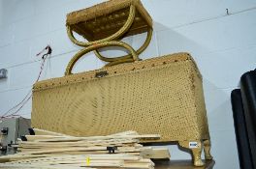
<path fill-rule="evenodd" d="M 190 149 L 192 151 L 194 165 L 195 166 L 204 166 L 204 162 L 201 158 L 202 153 L 202 142 L 197 141 L 179 141 L 178 144 L 186 149 Z"/>

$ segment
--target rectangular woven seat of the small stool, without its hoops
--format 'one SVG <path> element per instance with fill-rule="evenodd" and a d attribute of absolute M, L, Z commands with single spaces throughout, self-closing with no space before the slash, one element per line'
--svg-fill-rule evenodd
<path fill-rule="evenodd" d="M 111 0 L 67 14 L 66 23 L 89 41 L 117 32 L 128 18 L 130 6 L 136 8 L 135 20 L 125 36 L 144 33 L 152 27 L 152 19 L 140 0 Z"/>

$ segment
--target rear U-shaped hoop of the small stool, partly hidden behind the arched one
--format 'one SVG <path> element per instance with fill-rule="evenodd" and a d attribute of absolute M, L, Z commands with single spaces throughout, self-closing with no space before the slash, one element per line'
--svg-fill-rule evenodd
<path fill-rule="evenodd" d="M 146 36 L 146 39 L 144 41 L 144 44 L 136 51 L 136 53 L 138 55 L 140 55 L 142 52 L 144 52 L 144 49 L 149 45 L 149 43 L 151 41 L 151 38 L 152 38 L 152 33 L 153 33 L 152 28 L 148 28 L 147 36 Z M 113 62 L 113 61 L 118 61 L 118 60 L 121 60 L 121 59 L 132 58 L 131 54 L 128 54 L 128 55 L 125 55 L 125 56 L 120 56 L 120 57 L 115 57 L 115 58 L 108 58 L 108 57 L 102 56 L 101 53 L 99 52 L 99 50 L 94 50 L 94 53 L 99 59 L 101 59 L 105 62 Z"/>

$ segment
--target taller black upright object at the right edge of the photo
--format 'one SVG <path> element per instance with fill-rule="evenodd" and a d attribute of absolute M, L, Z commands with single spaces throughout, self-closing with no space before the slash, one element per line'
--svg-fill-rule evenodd
<path fill-rule="evenodd" d="M 242 74 L 240 91 L 252 163 L 253 167 L 256 168 L 256 70 Z"/>

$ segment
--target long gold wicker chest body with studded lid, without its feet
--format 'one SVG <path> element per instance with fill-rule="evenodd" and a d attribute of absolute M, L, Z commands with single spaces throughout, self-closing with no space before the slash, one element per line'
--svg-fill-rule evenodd
<path fill-rule="evenodd" d="M 103 70 L 109 74 L 95 77 Z M 191 56 L 177 53 L 41 81 L 32 126 L 77 136 L 137 130 L 159 133 L 159 141 L 207 139 L 202 78 Z"/>

